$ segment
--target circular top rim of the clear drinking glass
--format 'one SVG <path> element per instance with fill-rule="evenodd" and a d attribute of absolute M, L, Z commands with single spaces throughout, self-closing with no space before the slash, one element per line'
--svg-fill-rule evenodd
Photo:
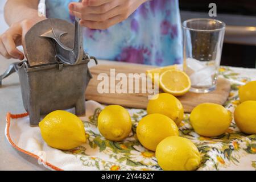
<path fill-rule="evenodd" d="M 186 23 L 188 22 L 193 22 L 193 21 L 198 21 L 198 20 L 208 20 L 208 21 L 214 21 L 214 22 L 218 22 L 220 24 L 222 24 L 223 27 L 221 28 L 215 28 L 212 30 L 202 30 L 202 29 L 195 29 L 195 28 L 189 28 L 187 26 L 185 26 Z M 187 19 L 182 23 L 182 27 L 186 30 L 191 30 L 191 31 L 201 31 L 201 32 L 215 32 L 215 31 L 221 31 L 221 30 L 225 30 L 226 28 L 226 23 L 222 22 L 221 20 L 217 20 L 217 19 L 212 19 L 212 18 L 191 18 L 191 19 Z"/>

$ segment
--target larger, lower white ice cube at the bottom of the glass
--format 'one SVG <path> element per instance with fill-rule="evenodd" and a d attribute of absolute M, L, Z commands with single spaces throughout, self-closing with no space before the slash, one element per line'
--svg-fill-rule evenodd
<path fill-rule="evenodd" d="M 209 86 L 212 85 L 213 76 L 215 74 L 214 67 L 205 67 L 192 73 L 190 77 L 193 86 Z"/>

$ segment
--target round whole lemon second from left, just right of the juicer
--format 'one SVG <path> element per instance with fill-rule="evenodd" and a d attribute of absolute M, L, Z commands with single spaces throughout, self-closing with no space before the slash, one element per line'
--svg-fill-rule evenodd
<path fill-rule="evenodd" d="M 121 141 L 131 132 L 130 114 L 122 106 L 106 106 L 98 116 L 98 130 L 106 139 Z"/>

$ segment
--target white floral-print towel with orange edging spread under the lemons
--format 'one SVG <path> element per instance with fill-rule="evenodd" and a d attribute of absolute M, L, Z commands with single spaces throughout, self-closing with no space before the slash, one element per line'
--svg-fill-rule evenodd
<path fill-rule="evenodd" d="M 256 80 L 256 69 L 221 67 L 219 71 L 220 77 L 227 78 L 232 84 L 225 107 L 233 113 L 240 104 L 238 88 Z M 146 110 L 127 109 L 133 123 L 132 131 L 122 142 L 113 142 L 102 137 L 97 129 L 97 118 L 104 106 L 95 101 L 85 104 L 86 116 L 81 120 L 87 140 L 79 147 L 61 151 L 48 146 L 43 142 L 40 129 L 29 126 L 27 113 L 7 114 L 6 138 L 17 150 L 34 158 L 38 156 L 39 164 L 43 162 L 55 170 L 161 170 L 155 153 L 144 148 L 137 139 L 136 127 L 147 114 Z M 75 109 L 68 111 L 75 113 Z M 179 135 L 190 139 L 199 149 L 201 164 L 198 170 L 256 169 L 256 135 L 242 133 L 234 121 L 225 134 L 208 138 L 195 133 L 189 114 L 185 114 Z"/>

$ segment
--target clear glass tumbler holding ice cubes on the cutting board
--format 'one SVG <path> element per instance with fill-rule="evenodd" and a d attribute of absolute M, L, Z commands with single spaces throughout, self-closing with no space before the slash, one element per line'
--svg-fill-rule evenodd
<path fill-rule="evenodd" d="M 207 93 L 216 88 L 225 23 L 216 19 L 185 20 L 183 69 L 191 79 L 191 92 Z"/>

